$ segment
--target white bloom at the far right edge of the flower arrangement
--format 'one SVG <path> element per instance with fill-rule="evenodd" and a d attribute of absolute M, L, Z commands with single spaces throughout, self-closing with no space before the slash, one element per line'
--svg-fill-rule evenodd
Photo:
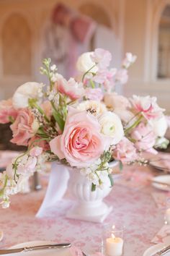
<path fill-rule="evenodd" d="M 161 116 L 160 119 L 151 119 L 149 120 L 149 124 L 151 124 L 153 132 L 157 137 L 164 137 L 166 129 L 168 128 L 165 116 Z"/>

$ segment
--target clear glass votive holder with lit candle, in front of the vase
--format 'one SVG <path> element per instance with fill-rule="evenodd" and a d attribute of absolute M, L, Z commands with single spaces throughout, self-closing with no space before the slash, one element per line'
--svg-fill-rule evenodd
<path fill-rule="evenodd" d="M 124 226 L 107 224 L 103 226 L 102 253 L 106 256 L 123 255 Z"/>

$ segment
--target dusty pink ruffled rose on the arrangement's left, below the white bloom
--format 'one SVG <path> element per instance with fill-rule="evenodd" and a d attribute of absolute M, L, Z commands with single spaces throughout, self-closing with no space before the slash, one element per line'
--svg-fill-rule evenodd
<path fill-rule="evenodd" d="M 35 117 L 28 108 L 22 108 L 19 110 L 17 119 L 11 126 L 13 132 L 12 143 L 17 145 L 27 146 L 28 141 L 37 132 L 37 121 Z"/>

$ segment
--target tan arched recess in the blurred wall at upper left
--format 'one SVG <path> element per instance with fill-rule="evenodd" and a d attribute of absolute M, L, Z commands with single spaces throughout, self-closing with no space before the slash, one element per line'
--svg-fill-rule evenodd
<path fill-rule="evenodd" d="M 2 68 L 4 76 L 31 74 L 31 31 L 27 21 L 12 14 L 1 33 Z"/>

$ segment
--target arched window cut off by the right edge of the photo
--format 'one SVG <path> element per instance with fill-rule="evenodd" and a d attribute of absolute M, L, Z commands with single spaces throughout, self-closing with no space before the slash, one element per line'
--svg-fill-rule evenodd
<path fill-rule="evenodd" d="M 170 5 L 161 14 L 158 27 L 158 78 L 170 78 Z"/>

